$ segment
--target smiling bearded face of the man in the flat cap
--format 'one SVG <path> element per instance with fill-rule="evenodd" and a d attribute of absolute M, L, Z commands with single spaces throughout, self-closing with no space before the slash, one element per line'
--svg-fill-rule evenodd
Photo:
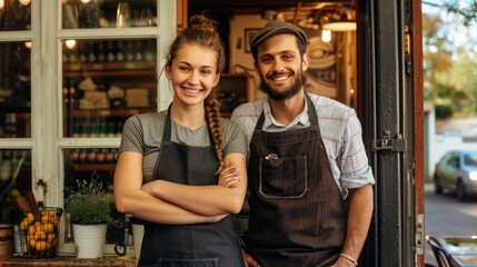
<path fill-rule="evenodd" d="M 257 48 L 260 89 L 274 100 L 288 99 L 301 90 L 308 66 L 309 57 L 300 55 L 294 34 L 272 36 Z"/>

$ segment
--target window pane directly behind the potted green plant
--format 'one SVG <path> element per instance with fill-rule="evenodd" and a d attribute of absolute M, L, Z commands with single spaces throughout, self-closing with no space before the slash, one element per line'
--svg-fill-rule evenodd
<path fill-rule="evenodd" d="M 77 181 L 89 181 L 92 178 L 102 184 L 102 188 L 107 191 L 108 197 L 112 199 L 112 178 L 116 168 L 117 148 L 81 148 L 81 149 L 64 149 L 64 199 L 72 191 L 77 190 Z M 122 214 L 111 209 L 113 218 L 118 222 L 125 220 Z M 72 243 L 72 226 L 69 221 L 68 214 L 66 215 L 64 241 Z M 107 243 L 116 244 L 123 241 L 125 229 L 113 225 L 108 225 Z"/>

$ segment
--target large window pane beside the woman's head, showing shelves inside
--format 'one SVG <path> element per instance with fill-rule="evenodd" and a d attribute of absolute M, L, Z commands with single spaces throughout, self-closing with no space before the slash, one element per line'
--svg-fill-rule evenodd
<path fill-rule="evenodd" d="M 63 136 L 119 137 L 157 109 L 156 39 L 63 41 Z"/>

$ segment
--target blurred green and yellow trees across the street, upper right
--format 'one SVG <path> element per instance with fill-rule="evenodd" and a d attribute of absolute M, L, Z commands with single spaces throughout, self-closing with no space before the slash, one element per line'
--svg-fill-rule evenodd
<path fill-rule="evenodd" d="M 465 7 L 477 8 L 477 0 L 470 1 L 466 1 Z M 458 3 L 461 2 L 447 2 L 449 14 L 459 13 L 455 11 L 463 7 Z M 456 34 L 471 31 L 468 28 L 460 32 L 464 22 L 459 14 L 460 19 L 451 21 L 439 14 L 423 13 L 425 99 L 434 102 L 438 118 L 477 113 L 477 53 L 471 46 L 475 37 L 470 33 L 466 37 L 468 42 L 456 43 Z"/>

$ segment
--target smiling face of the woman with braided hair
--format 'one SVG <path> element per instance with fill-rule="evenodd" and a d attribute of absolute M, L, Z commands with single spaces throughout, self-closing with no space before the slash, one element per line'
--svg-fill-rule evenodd
<path fill-rule="evenodd" d="M 166 77 L 173 88 L 173 101 L 183 106 L 203 107 L 203 100 L 219 81 L 217 56 L 213 50 L 196 44 L 183 44 Z"/>

